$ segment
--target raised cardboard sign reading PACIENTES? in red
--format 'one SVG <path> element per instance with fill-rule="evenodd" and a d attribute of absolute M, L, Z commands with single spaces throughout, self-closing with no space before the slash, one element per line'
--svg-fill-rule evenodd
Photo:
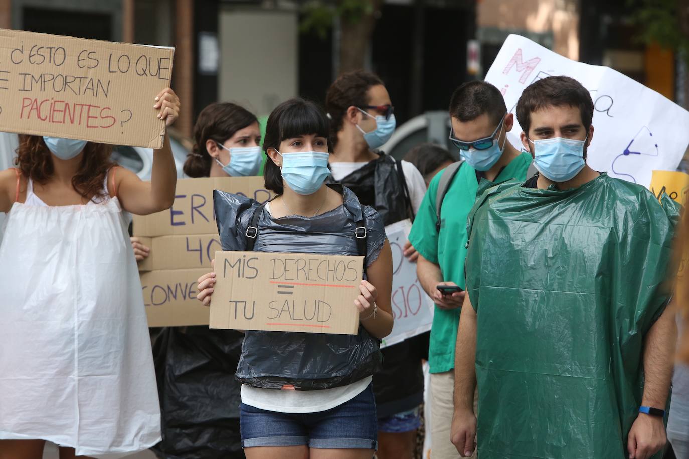
<path fill-rule="evenodd" d="M 163 147 L 174 48 L 0 29 L 0 131 Z"/>

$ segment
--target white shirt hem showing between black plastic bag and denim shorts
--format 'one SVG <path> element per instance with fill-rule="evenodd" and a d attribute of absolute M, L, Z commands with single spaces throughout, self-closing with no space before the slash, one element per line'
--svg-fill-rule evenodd
<path fill-rule="evenodd" d="M 270 203 L 265 204 L 270 212 Z M 353 305 L 352 305 L 353 306 Z M 373 376 L 360 379 L 356 383 L 320 390 L 262 389 L 243 384 L 242 403 L 258 409 L 278 413 L 318 413 L 333 409 L 358 396 L 369 387 Z"/>

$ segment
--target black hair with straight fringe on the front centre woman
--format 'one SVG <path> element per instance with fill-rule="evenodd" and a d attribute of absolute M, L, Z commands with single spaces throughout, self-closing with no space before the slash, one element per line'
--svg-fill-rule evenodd
<path fill-rule="evenodd" d="M 311 100 L 300 97 L 285 100 L 275 107 L 268 117 L 265 126 L 265 138 L 263 139 L 263 151 L 267 153 L 270 148 L 280 151 L 282 140 L 309 134 L 325 137 L 328 142 L 328 151 L 330 151 L 330 141 L 328 140 L 330 123 L 325 112 Z M 265 163 L 263 177 L 265 178 L 266 189 L 277 195 L 285 192 L 282 186 L 280 168 L 271 160 L 267 160 Z"/>

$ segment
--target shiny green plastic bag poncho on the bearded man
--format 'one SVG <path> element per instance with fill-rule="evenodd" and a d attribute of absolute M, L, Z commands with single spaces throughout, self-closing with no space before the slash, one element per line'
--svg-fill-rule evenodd
<path fill-rule="evenodd" d="M 667 196 L 605 173 L 480 196 L 466 257 L 480 459 L 628 457 L 678 220 Z"/>

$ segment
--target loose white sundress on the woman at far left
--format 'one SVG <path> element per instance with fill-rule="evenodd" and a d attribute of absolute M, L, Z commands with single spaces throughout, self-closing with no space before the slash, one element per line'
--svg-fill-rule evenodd
<path fill-rule="evenodd" d="M 0 242 L 0 440 L 143 451 L 161 415 L 127 215 L 109 197 L 47 206 L 32 185 Z"/>

